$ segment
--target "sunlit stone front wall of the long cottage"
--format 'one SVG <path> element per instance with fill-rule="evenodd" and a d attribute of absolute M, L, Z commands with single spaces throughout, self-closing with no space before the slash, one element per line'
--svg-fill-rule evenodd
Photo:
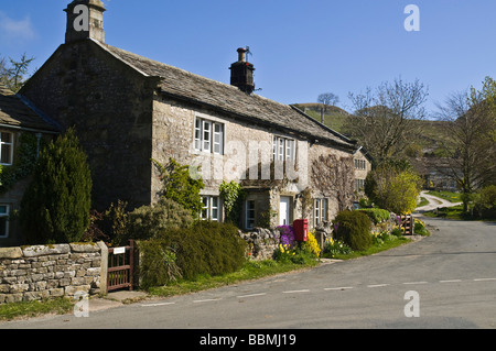
<path fill-rule="evenodd" d="M 196 152 L 194 150 L 194 123 L 195 118 L 203 118 L 213 122 L 224 124 L 223 155 Z M 273 135 L 281 135 L 296 141 L 296 166 L 299 178 L 291 180 L 274 180 L 273 164 L 269 165 L 270 179 L 262 179 L 265 157 L 272 161 L 272 139 Z M 258 151 L 257 149 L 258 147 Z M 267 127 L 259 127 L 255 123 L 247 123 L 235 120 L 207 108 L 193 106 L 173 98 L 158 96 L 153 102 L 153 136 L 152 157 L 160 163 L 166 163 L 169 157 L 173 157 L 181 164 L 201 166 L 201 173 L 205 188 L 202 195 L 218 196 L 218 187 L 223 180 L 240 180 L 245 189 L 248 190 L 247 200 L 256 200 L 256 226 L 276 227 L 279 224 L 278 211 L 281 196 L 289 196 L 291 202 L 291 220 L 303 217 L 302 198 L 299 196 L 306 188 L 313 189 L 311 182 L 312 162 L 321 154 L 336 154 L 338 157 L 351 157 L 349 151 L 343 151 L 322 143 L 311 143 L 296 135 L 284 135 L 277 130 Z M 254 165 L 254 157 L 257 160 Z M 353 161 L 351 161 L 353 162 Z M 251 166 L 251 167 L 250 167 Z M 257 167 L 257 169 L 255 169 Z M 349 178 L 354 184 L 354 177 Z M 155 168 L 151 180 L 152 194 L 158 194 L 163 184 L 160 173 Z M 332 219 L 337 213 L 337 202 L 332 196 L 335 191 L 330 189 L 325 197 L 328 198 L 327 218 Z M 323 197 L 322 194 L 313 191 L 312 196 Z M 157 200 L 158 198 L 155 198 Z M 241 211 L 242 215 L 245 210 Z M 311 209 L 306 209 L 306 215 Z M 244 220 L 241 219 L 241 227 Z M 309 218 L 309 224 L 313 221 Z"/>

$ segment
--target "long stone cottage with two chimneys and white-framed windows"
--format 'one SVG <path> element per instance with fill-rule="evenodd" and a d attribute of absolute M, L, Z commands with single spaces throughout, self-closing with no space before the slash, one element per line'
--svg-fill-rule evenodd
<path fill-rule="evenodd" d="M 215 81 L 106 44 L 105 10 L 99 0 L 69 3 L 65 43 L 21 90 L 63 129 L 76 127 L 95 208 L 118 199 L 131 207 L 157 201 L 162 184 L 152 160 L 170 157 L 204 179 L 204 218 L 223 220 L 219 185 L 241 183 L 248 196 L 240 226 L 247 230 L 302 217 L 325 221 L 337 212 L 338 198 L 352 205 L 332 185 L 314 182 L 321 180 L 320 157 L 333 155 L 352 169 L 338 176 L 353 196 L 357 145 L 296 108 L 255 94 L 246 50 L 238 50 L 230 84 Z"/>

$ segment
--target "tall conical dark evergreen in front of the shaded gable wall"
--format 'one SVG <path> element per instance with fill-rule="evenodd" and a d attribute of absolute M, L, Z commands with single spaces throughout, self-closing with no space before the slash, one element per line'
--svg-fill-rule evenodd
<path fill-rule="evenodd" d="M 20 219 L 30 244 L 77 242 L 89 226 L 91 177 L 73 129 L 51 142 L 34 167 Z"/>

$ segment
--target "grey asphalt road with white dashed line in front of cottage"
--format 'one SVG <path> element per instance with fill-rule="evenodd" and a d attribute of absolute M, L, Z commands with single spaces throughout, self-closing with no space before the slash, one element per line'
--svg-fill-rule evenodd
<path fill-rule="evenodd" d="M 376 255 L 0 329 L 496 329 L 496 223 L 425 221 L 431 237 Z"/>

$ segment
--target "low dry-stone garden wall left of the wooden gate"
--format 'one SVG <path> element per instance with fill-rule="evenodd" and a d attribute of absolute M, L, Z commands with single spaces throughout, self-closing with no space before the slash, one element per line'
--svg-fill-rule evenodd
<path fill-rule="evenodd" d="M 0 304 L 106 290 L 107 255 L 103 242 L 0 249 Z"/>

